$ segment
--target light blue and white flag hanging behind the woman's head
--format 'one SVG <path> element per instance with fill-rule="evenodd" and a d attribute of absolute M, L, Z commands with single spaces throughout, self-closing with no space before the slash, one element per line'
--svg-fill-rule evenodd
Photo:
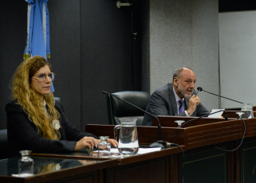
<path fill-rule="evenodd" d="M 48 0 L 25 0 L 28 3 L 27 38 L 23 59 L 30 56 L 50 58 Z M 53 83 L 51 91 L 54 91 Z"/>

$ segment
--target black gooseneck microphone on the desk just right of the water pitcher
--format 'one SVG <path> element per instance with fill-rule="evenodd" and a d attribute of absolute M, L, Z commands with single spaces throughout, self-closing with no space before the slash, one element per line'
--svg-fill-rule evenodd
<path fill-rule="evenodd" d="M 145 110 L 141 109 L 140 107 L 137 107 L 136 105 L 134 105 L 132 103 L 129 103 L 128 101 L 126 101 L 124 99 L 121 99 L 120 97 L 118 97 L 116 95 L 108 93 L 107 91 L 102 91 L 102 93 L 107 94 L 107 95 L 111 95 L 111 96 L 115 97 L 116 99 L 120 99 L 124 103 L 128 103 L 132 107 L 136 107 L 140 111 L 144 111 L 144 113 L 147 113 L 148 115 L 151 115 L 153 118 L 155 118 L 157 120 L 157 122 L 158 122 L 158 141 L 157 142 L 153 142 L 151 145 L 149 145 L 150 147 L 169 147 L 169 146 L 171 146 L 171 143 L 169 144 L 169 142 L 163 142 L 162 141 L 161 123 L 160 123 L 160 120 L 156 117 L 156 115 L 152 115 L 148 111 L 145 111 Z"/>

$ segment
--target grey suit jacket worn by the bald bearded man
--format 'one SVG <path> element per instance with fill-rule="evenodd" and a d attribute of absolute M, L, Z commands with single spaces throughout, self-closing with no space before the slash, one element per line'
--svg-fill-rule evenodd
<path fill-rule="evenodd" d="M 193 91 L 192 95 L 195 94 Z M 172 84 L 166 84 L 161 88 L 156 89 L 152 93 L 151 99 L 148 102 L 148 107 L 146 111 L 151 113 L 152 115 L 176 115 L 176 116 L 186 116 L 185 111 L 188 107 L 188 99 L 184 99 L 185 110 L 178 114 L 177 103 L 175 99 L 175 94 L 173 91 Z M 203 107 L 202 103 L 196 107 L 195 112 L 191 116 L 202 116 L 210 114 L 205 107 Z M 144 114 L 144 121 L 142 123 L 143 126 L 152 126 L 154 122 L 154 118 L 147 113 Z"/>

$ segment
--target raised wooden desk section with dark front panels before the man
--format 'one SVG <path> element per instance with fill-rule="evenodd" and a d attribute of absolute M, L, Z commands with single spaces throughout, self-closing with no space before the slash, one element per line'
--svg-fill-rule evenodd
<path fill-rule="evenodd" d="M 160 123 L 171 118 L 160 119 Z M 182 118 L 177 118 L 182 119 Z M 176 119 L 175 119 L 176 120 Z M 207 121 L 208 120 L 208 121 Z M 164 141 L 183 146 L 186 163 L 183 182 L 254 182 L 256 178 L 250 173 L 256 165 L 256 119 L 245 119 L 246 138 L 240 149 L 234 150 L 244 134 L 245 126 L 241 119 L 200 119 L 183 128 L 162 127 Z M 96 135 L 107 134 L 112 137 L 114 126 L 87 125 L 86 130 Z M 139 142 L 147 144 L 157 140 L 157 127 L 137 127 Z M 171 157 L 174 157 L 172 154 Z M 177 158 L 177 157 L 176 157 Z M 175 158 L 172 158 L 175 161 Z M 181 163 L 170 162 L 174 169 Z M 175 166 L 176 165 L 176 166 Z M 248 169 L 247 167 L 252 167 Z M 255 166 L 255 167 L 254 167 Z M 213 176 L 214 175 L 214 176 Z M 179 177 L 179 176 L 178 176 Z M 173 177 L 172 177 L 173 178 Z M 177 179 L 175 179 L 177 180 Z M 177 181 L 178 182 L 178 181 Z"/>

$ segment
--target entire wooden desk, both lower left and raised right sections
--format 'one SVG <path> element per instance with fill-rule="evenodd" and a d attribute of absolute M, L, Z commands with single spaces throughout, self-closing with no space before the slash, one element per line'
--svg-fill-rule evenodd
<path fill-rule="evenodd" d="M 163 139 L 181 145 L 185 151 L 186 161 L 183 180 L 181 150 L 178 147 L 171 147 L 170 149 L 128 158 L 100 158 L 95 154 L 82 152 L 76 154 L 33 154 L 35 160 L 38 158 L 35 162 L 42 162 L 43 165 L 48 165 L 49 162 L 60 163 L 63 169 L 51 170 L 48 173 L 37 173 L 34 177 L 27 178 L 11 177 L 11 173 L 17 173 L 18 171 L 18 158 L 6 159 L 0 161 L 0 181 L 93 183 L 255 182 L 256 120 L 246 119 L 245 122 L 246 138 L 242 147 L 233 152 L 218 150 L 215 147 L 231 150 L 238 146 L 243 132 L 241 120 L 195 124 L 193 127 L 184 128 L 163 127 Z M 113 127 L 111 125 L 87 125 L 86 131 L 96 135 L 112 137 Z M 225 130 L 223 130 L 223 127 L 225 127 Z M 137 130 L 140 143 L 147 145 L 157 140 L 157 127 L 137 127 Z"/>

